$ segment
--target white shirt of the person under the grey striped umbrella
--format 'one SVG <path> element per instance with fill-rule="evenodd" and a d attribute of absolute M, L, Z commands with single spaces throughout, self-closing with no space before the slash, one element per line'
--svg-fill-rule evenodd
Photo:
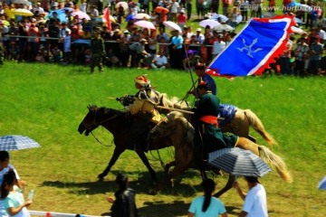
<path fill-rule="evenodd" d="M 257 184 L 245 195 L 243 211 L 247 212 L 247 217 L 267 217 L 267 199 L 264 186 Z"/>

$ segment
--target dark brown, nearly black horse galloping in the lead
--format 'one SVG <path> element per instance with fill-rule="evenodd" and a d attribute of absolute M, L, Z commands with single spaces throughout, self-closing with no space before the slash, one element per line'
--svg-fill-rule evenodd
<path fill-rule="evenodd" d="M 89 106 L 89 112 L 85 118 L 82 119 L 82 123 L 78 127 L 80 134 L 85 133 L 88 136 L 91 131 L 99 126 L 105 127 L 113 135 L 114 139 L 114 152 L 110 158 L 109 165 L 104 171 L 98 175 L 99 179 L 103 179 L 110 172 L 110 168 L 118 160 L 119 156 L 126 150 L 134 150 L 133 147 L 128 146 L 130 123 L 131 118 L 129 113 L 119 111 L 116 109 L 98 108 L 96 106 Z M 156 142 L 154 146 L 149 143 L 149 150 L 158 150 L 167 146 L 172 146 L 170 141 Z M 149 160 L 144 153 L 144 150 L 135 150 L 141 161 L 146 165 L 149 170 L 149 174 L 154 182 L 157 181 L 157 176 L 153 168 L 149 165 Z"/>

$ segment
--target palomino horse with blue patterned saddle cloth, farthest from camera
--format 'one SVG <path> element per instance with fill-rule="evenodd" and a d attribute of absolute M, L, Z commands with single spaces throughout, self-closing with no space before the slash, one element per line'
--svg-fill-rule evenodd
<path fill-rule="evenodd" d="M 168 108 L 191 109 L 185 101 L 179 102 L 176 97 L 168 99 L 168 96 L 165 93 L 161 94 L 160 102 L 162 106 Z M 168 114 L 169 111 L 168 109 L 160 109 L 159 112 Z M 187 118 L 187 114 L 176 114 Z M 233 105 L 220 104 L 219 117 L 224 118 L 224 120 L 218 121 L 219 127 L 221 127 L 223 132 L 233 133 L 239 137 L 247 137 L 256 142 L 255 138 L 249 135 L 249 127 L 253 127 L 270 146 L 277 144 L 273 136 L 264 129 L 262 121 L 250 109 L 238 109 Z"/>

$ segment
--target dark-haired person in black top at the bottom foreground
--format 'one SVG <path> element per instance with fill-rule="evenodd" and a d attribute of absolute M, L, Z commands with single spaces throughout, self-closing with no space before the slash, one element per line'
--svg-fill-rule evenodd
<path fill-rule="evenodd" d="M 138 217 L 137 206 L 135 203 L 135 191 L 128 186 L 128 176 L 119 174 L 115 180 L 118 190 L 113 197 L 107 197 L 111 206 L 111 217 Z"/>

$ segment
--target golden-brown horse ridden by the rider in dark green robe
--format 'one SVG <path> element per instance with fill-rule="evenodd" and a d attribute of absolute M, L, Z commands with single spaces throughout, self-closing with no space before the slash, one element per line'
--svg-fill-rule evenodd
<path fill-rule="evenodd" d="M 175 113 L 174 111 L 173 113 Z M 151 130 L 151 136 L 153 141 L 169 140 L 172 141 L 172 145 L 175 147 L 175 160 L 168 163 L 165 167 L 165 172 L 168 181 L 172 180 L 175 176 L 186 171 L 188 168 L 202 169 L 198 165 L 198 154 L 194 151 L 193 137 L 195 129 L 187 121 L 186 118 L 176 116 L 175 114 L 165 118 L 156 127 Z M 286 182 L 292 182 L 292 176 L 288 172 L 283 159 L 280 156 L 273 154 L 273 152 L 266 146 L 259 146 L 246 137 L 239 137 L 239 141 L 236 144 L 237 147 L 250 150 L 255 155 L 262 157 L 264 162 L 271 165 L 276 169 L 281 178 Z M 169 167 L 174 166 L 172 171 L 169 172 Z M 201 171 L 203 174 L 203 171 Z M 203 175 L 202 175 L 203 177 Z M 230 175 L 229 180 L 225 187 L 215 194 L 219 197 L 230 188 L 235 181 L 235 176 Z M 159 185 L 158 190 L 163 187 Z"/>

